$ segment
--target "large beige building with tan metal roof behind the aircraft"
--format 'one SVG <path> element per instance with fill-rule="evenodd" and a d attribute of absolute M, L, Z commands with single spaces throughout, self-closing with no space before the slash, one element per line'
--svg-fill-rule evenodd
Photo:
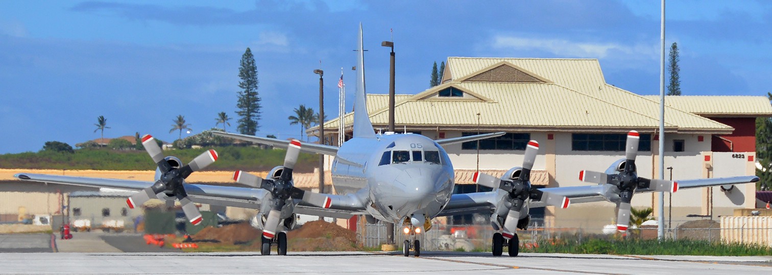
<path fill-rule="evenodd" d="M 395 128 L 432 139 L 507 132 L 476 143 L 447 146 L 456 183 L 471 183 L 477 169 L 501 175 L 521 166 L 529 139 L 540 143 L 532 182 L 541 186 L 581 186 L 583 169 L 604 171 L 624 157 L 629 130 L 642 133 L 638 174 L 659 176 L 659 97 L 639 96 L 605 82 L 597 59 L 493 59 L 451 57 L 442 84 L 415 95 L 398 95 Z M 665 179 L 753 175 L 754 120 L 772 116 L 764 96 L 669 96 L 665 107 Z M 367 95 L 375 131 L 388 128 L 388 96 Z M 350 131 L 352 113 L 344 116 Z M 340 118 L 324 124 L 327 140 L 337 140 Z M 318 135 L 318 127 L 308 130 Z M 350 132 L 347 133 L 350 135 Z M 331 162 L 330 162 L 331 163 Z M 665 215 L 690 220 L 732 215 L 754 206 L 755 186 L 681 190 L 665 195 Z M 657 196 L 639 194 L 634 207 L 657 206 Z M 539 210 L 534 211 L 538 213 Z M 612 223 L 613 203 L 583 203 L 544 211 L 555 226 L 600 228 Z"/>

